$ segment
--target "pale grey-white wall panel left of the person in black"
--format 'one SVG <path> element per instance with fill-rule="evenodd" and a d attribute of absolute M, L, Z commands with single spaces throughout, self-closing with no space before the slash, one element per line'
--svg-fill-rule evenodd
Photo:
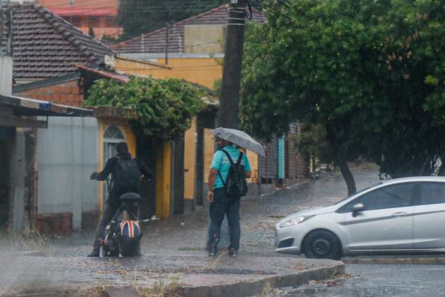
<path fill-rule="evenodd" d="M 96 118 L 50 117 L 38 129 L 38 214 L 72 212 L 81 229 L 82 212 L 99 209 L 97 182 L 87 177 L 98 163 Z"/>

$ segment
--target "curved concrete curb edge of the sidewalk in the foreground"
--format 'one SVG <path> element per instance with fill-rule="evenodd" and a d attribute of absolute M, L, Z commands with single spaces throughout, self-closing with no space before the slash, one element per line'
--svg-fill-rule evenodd
<path fill-rule="evenodd" d="M 277 287 L 298 286 L 309 282 L 309 280 L 325 280 L 327 278 L 332 278 L 338 273 L 344 273 L 344 271 L 344 264 L 339 262 L 339 264 L 334 266 L 312 268 L 296 273 L 273 275 L 252 282 L 236 282 L 234 284 L 220 284 L 202 287 L 184 287 L 184 295 L 186 297 L 253 296 L 255 294 L 266 293 L 266 291 Z M 216 275 L 216 277 L 218 276 Z"/>

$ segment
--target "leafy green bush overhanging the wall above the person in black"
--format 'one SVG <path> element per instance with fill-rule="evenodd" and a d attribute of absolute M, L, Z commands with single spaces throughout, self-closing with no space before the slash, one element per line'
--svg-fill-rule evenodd
<path fill-rule="evenodd" d="M 204 107 L 204 91 L 179 79 L 131 77 L 129 83 L 101 79 L 90 88 L 88 106 L 133 109 L 135 134 L 143 138 L 176 138 L 191 127 Z"/>

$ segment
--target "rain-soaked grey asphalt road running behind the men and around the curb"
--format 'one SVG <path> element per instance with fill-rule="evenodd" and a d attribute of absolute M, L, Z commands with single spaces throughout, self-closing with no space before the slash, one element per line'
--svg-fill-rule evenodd
<path fill-rule="evenodd" d="M 375 166 L 353 167 L 357 191 L 378 182 Z M 241 253 L 273 252 L 273 226 L 280 218 L 302 209 L 322 207 L 346 197 L 346 184 L 339 172 L 242 202 Z M 145 225 L 142 252 L 175 255 L 178 251 L 204 249 L 206 211 L 174 216 Z M 83 256 L 90 252 L 92 232 L 49 239 L 49 255 Z M 3 245 L 3 248 L 5 245 Z M 0 247 L 0 250 L 2 247 Z M 298 256 L 296 256 L 298 257 Z M 445 296 L 445 266 L 347 264 L 347 278 L 298 288 L 282 288 L 268 296 Z"/>

